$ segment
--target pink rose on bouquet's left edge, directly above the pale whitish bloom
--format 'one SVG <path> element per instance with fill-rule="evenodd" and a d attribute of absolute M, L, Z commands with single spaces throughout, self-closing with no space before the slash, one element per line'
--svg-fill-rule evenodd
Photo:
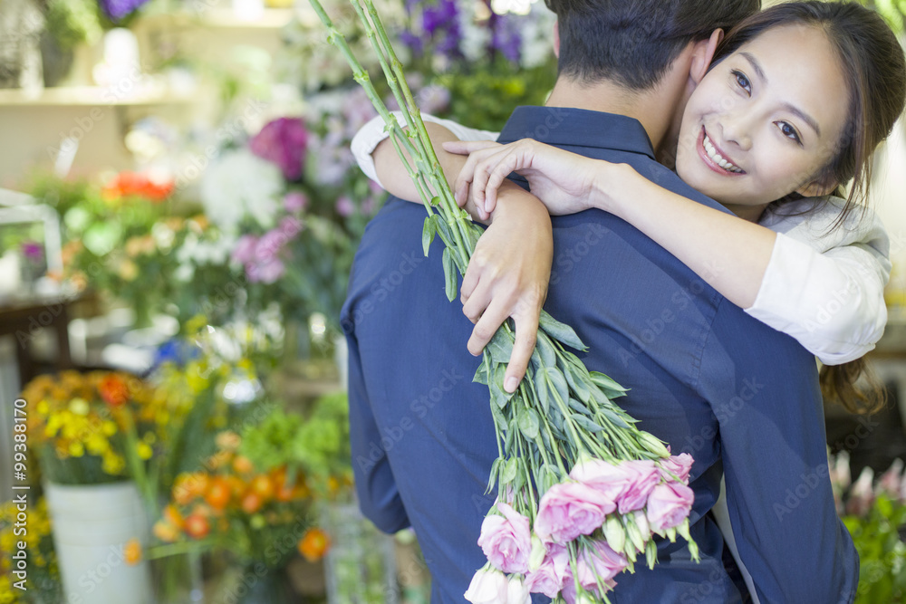
<path fill-rule="evenodd" d="M 503 515 L 489 514 L 485 517 L 478 545 L 497 570 L 525 574 L 532 552 L 528 518 L 507 503 L 498 501 L 496 508 Z"/>

